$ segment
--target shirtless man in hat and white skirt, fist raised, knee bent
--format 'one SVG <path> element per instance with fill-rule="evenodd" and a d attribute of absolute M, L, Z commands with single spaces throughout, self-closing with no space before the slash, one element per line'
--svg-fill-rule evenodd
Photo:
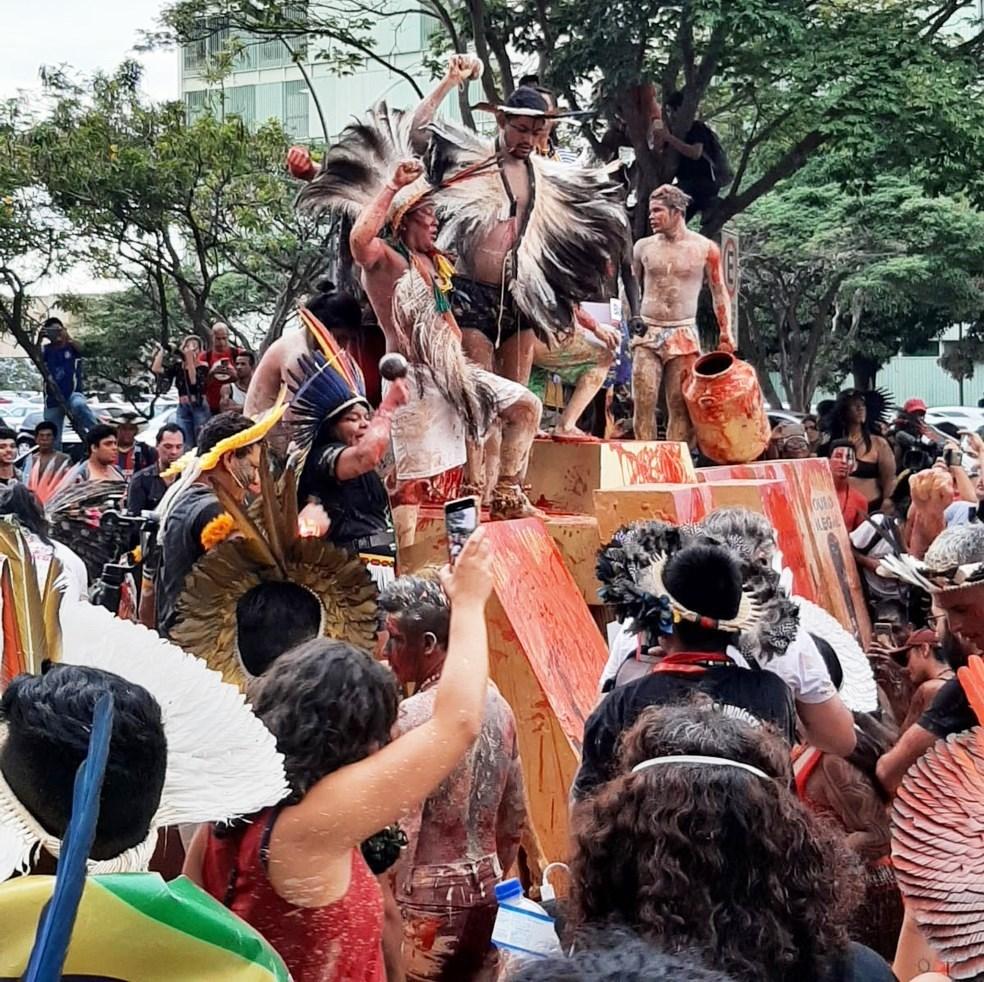
<path fill-rule="evenodd" d="M 465 360 L 462 332 L 447 309 L 450 284 L 435 249 L 437 220 L 428 191 L 419 161 L 403 161 L 349 238 L 370 303 L 384 330 L 400 339 L 417 383 L 411 392 L 420 394 L 400 419 L 394 418 L 397 476 L 425 477 L 454 466 L 467 432 L 472 441 L 468 483 L 479 490 L 484 474 L 479 443 L 495 418 L 502 424 L 502 445 L 492 517 L 539 514 L 523 492 L 522 475 L 540 421 L 540 401 L 524 386 Z M 381 238 L 386 226 L 400 251 Z"/>

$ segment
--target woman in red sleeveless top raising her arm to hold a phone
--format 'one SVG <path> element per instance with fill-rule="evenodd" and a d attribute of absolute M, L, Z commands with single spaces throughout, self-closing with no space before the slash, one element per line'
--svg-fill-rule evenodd
<path fill-rule="evenodd" d="M 481 732 L 491 563 L 480 531 L 443 571 L 451 616 L 433 712 L 395 739 L 396 679 L 344 642 L 281 655 L 251 690 L 289 793 L 249 822 L 202 827 L 184 872 L 259 930 L 296 982 L 385 979 L 383 898 L 359 846 L 419 808 Z"/>

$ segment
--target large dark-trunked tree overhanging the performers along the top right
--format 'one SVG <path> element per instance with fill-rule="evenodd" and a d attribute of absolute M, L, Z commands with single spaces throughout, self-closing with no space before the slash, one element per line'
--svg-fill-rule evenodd
<path fill-rule="evenodd" d="M 710 120 L 735 165 L 731 186 L 704 215 L 703 231 L 713 236 L 828 147 L 842 151 L 845 178 L 916 168 L 935 191 L 975 182 L 984 192 L 974 167 L 984 149 L 984 100 L 975 98 L 984 33 L 980 25 L 966 35 L 951 26 L 974 7 L 971 0 L 310 0 L 286 7 L 175 0 L 156 39 L 200 44 L 222 31 L 241 44 L 304 37 L 323 42 L 318 50 L 336 70 L 351 71 L 381 60 L 373 24 L 419 13 L 435 24 L 436 48 L 474 46 L 486 63 L 487 99 L 513 87 L 515 54 L 573 108 L 613 124 L 635 151 L 640 201 L 676 174 L 676 152 L 650 146 L 651 96 L 665 104 L 679 91 L 674 134 L 683 139 L 695 119 Z M 596 129 L 585 135 L 597 148 Z M 636 209 L 637 236 L 644 212 Z"/>

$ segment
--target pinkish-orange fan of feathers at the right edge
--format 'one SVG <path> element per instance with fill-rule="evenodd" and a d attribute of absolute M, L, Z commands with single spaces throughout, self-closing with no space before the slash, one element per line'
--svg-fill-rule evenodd
<path fill-rule="evenodd" d="M 961 668 L 984 719 L 984 661 Z M 892 862 L 906 909 L 952 979 L 984 977 L 984 730 L 940 740 L 909 769 L 892 809 Z"/>

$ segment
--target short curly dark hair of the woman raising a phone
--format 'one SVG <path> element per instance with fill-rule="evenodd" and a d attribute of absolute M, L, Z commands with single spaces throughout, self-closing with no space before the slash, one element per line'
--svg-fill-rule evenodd
<path fill-rule="evenodd" d="M 300 801 L 325 775 L 389 743 L 396 722 L 393 673 L 364 651 L 328 638 L 281 655 L 249 695 L 284 755 L 287 804 Z"/>

